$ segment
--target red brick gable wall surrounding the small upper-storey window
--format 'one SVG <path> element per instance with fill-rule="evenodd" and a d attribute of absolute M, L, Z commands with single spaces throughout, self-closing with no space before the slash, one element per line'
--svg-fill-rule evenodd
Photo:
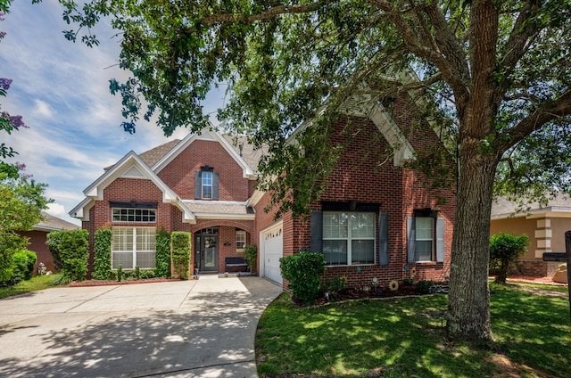
<path fill-rule="evenodd" d="M 161 180 L 184 200 L 194 199 L 194 173 L 203 166 L 219 173 L 219 201 L 246 201 L 250 180 L 228 152 L 215 141 L 195 140 L 159 172 Z"/>

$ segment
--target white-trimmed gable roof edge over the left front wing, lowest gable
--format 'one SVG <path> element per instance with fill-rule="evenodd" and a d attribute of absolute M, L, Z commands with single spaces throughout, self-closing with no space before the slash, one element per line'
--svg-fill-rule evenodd
<path fill-rule="evenodd" d="M 169 186 L 158 177 L 148 165 L 135 152 L 128 152 L 111 168 L 107 169 L 102 176 L 98 177 L 83 191 L 86 199 L 70 211 L 70 216 L 82 220 L 89 220 L 89 210 L 95 205 L 96 200 L 103 200 L 103 190 L 119 177 L 149 179 L 162 193 L 162 201 L 170 203 L 182 211 L 184 223 L 196 223 L 192 211 L 178 198 Z"/>

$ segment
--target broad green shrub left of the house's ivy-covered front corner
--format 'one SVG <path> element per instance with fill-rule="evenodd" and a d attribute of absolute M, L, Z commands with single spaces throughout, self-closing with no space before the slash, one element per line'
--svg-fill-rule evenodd
<path fill-rule="evenodd" d="M 87 275 L 89 232 L 87 230 L 60 230 L 47 234 L 50 252 L 61 265 L 62 282 L 83 280 Z"/>

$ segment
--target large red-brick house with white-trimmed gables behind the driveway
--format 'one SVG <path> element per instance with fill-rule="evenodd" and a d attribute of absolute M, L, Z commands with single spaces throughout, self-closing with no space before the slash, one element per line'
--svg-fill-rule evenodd
<path fill-rule="evenodd" d="M 95 230 L 112 227 L 113 268 L 154 267 L 154 235 L 164 228 L 192 233 L 191 265 L 201 272 L 224 272 L 226 257 L 243 256 L 244 245 L 256 244 L 256 270 L 278 284 L 284 284 L 279 259 L 298 251 L 322 251 L 327 276 L 346 276 L 350 285 L 377 278 L 386 286 L 414 274 L 447 279 L 454 197 L 440 193 L 448 202 L 437 205 L 422 175 L 402 168 L 416 151 L 439 144 L 437 134 L 414 127 L 414 106 L 402 99 L 392 111 L 355 103 L 333 125 L 341 138 L 348 119 L 358 124 L 307 221 L 266 213 L 269 193 L 255 189 L 262 152 L 245 138 L 206 129 L 148 152 L 128 152 L 87 187 L 70 215 L 89 230 L 92 251 Z M 385 164 L 366 157 L 389 148 L 394 156 Z"/>

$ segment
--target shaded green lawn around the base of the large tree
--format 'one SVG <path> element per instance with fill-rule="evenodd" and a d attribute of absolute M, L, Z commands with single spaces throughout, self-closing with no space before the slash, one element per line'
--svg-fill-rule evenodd
<path fill-rule="evenodd" d="M 261 316 L 261 377 L 571 377 L 567 296 L 492 284 L 495 341 L 447 341 L 447 297 L 359 300 L 299 308 L 288 294 Z"/>

